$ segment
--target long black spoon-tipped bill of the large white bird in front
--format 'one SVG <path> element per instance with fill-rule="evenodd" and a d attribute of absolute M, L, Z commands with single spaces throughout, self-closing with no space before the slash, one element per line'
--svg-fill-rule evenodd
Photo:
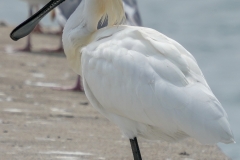
<path fill-rule="evenodd" d="M 22 24 L 17 26 L 12 33 L 10 34 L 10 37 L 12 40 L 17 41 L 28 34 L 30 34 L 33 29 L 36 27 L 36 25 L 39 23 L 39 21 L 52 9 L 57 7 L 59 4 L 64 2 L 65 0 L 51 0 L 48 4 L 46 4 L 42 9 L 40 9 L 37 13 L 35 13 L 32 17 L 28 18 L 26 21 L 24 21 Z"/>

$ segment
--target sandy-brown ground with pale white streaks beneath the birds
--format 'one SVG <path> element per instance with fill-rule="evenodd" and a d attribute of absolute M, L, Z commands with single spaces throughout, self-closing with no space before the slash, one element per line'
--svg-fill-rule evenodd
<path fill-rule="evenodd" d="M 0 27 L 0 160 L 131 160 L 127 139 L 83 93 L 48 86 L 71 85 L 76 75 L 64 54 L 41 53 L 57 36 L 34 35 L 33 53 L 13 53 L 12 28 Z M 216 146 L 139 139 L 145 160 L 225 160 Z"/>

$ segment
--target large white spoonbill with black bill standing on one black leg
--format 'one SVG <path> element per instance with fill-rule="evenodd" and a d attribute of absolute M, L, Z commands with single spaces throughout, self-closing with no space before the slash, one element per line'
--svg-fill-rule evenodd
<path fill-rule="evenodd" d="M 61 0 L 51 2 L 47 7 Z M 108 26 L 98 30 L 106 17 Z M 227 114 L 194 57 L 156 30 L 122 25 L 124 17 L 121 0 L 83 0 L 65 25 L 63 45 L 87 98 L 130 139 L 134 159 L 141 159 L 136 137 L 234 143 Z M 27 35 L 34 20 L 12 39 Z"/>

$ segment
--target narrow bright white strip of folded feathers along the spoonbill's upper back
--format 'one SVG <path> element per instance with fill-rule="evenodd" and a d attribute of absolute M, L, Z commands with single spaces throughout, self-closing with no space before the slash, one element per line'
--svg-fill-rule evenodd
<path fill-rule="evenodd" d="M 211 90 L 197 61 L 182 45 L 150 28 L 142 28 L 140 34 L 148 40 L 159 54 L 163 54 L 167 60 L 181 70 L 188 83 L 200 82 Z"/>

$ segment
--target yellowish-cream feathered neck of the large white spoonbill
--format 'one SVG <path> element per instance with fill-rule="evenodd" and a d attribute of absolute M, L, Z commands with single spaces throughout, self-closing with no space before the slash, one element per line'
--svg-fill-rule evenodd
<path fill-rule="evenodd" d="M 83 0 L 64 27 L 64 51 L 70 67 L 78 74 L 81 74 L 81 49 L 91 43 L 99 21 L 105 18 L 108 26 L 125 20 L 122 0 Z"/>

